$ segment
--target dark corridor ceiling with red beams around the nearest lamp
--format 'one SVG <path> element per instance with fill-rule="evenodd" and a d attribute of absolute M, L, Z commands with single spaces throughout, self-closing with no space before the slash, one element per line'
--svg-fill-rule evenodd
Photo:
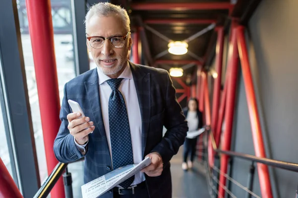
<path fill-rule="evenodd" d="M 215 54 L 216 27 L 228 32 L 230 20 L 245 25 L 260 0 L 113 0 L 129 11 L 132 32 L 139 31 L 149 66 L 168 69 L 208 67 Z M 170 40 L 188 43 L 184 55 L 168 53 Z"/>

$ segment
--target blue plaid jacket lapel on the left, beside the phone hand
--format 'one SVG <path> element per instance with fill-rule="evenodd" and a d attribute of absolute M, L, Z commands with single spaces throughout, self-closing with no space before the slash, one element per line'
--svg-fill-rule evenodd
<path fill-rule="evenodd" d="M 107 150 L 110 150 L 107 142 L 103 119 L 102 119 L 101 103 L 99 98 L 98 74 L 97 74 L 96 68 L 93 70 L 93 73 L 91 74 L 89 80 L 84 82 L 84 84 L 86 88 L 87 98 L 90 103 L 91 111 L 95 119 L 94 122 L 96 124 L 96 127 L 99 131 L 101 138 L 106 140 L 103 142 L 106 144 Z M 94 134 L 94 135 L 97 135 L 97 134 Z"/>

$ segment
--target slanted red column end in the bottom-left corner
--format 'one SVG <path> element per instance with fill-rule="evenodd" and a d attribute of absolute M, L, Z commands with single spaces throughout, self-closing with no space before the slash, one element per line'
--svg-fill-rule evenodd
<path fill-rule="evenodd" d="M 0 198 L 23 198 L 0 158 Z"/>

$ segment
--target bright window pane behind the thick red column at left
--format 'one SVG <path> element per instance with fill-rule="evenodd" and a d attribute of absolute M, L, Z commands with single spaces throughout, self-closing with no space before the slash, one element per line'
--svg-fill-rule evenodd
<path fill-rule="evenodd" d="M 19 0 L 17 3 L 38 166 L 43 183 L 48 172 L 26 4 L 25 0 Z M 51 0 L 51 6 L 59 93 L 62 101 L 65 83 L 75 77 L 71 0 Z"/>

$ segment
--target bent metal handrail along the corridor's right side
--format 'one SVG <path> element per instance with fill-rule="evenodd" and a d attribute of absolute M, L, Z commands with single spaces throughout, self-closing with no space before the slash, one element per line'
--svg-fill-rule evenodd
<path fill-rule="evenodd" d="M 262 164 L 266 164 L 266 165 L 269 165 L 269 166 L 282 168 L 282 169 L 290 170 L 290 171 L 294 171 L 294 172 L 298 172 L 298 164 L 296 164 L 296 163 L 280 161 L 280 160 L 275 160 L 275 159 L 269 159 L 269 158 L 264 158 L 264 157 L 257 157 L 255 155 L 250 155 L 250 154 L 245 154 L 245 153 L 240 153 L 240 152 L 234 152 L 234 151 L 219 149 L 216 146 L 214 135 L 211 132 L 211 130 L 209 130 L 209 134 L 210 134 L 210 137 L 211 137 L 213 150 L 216 151 L 217 153 L 224 153 L 224 154 L 227 154 L 227 155 L 232 156 L 232 157 L 239 157 L 239 158 L 247 159 L 247 160 L 250 160 L 250 161 L 260 162 Z"/>

